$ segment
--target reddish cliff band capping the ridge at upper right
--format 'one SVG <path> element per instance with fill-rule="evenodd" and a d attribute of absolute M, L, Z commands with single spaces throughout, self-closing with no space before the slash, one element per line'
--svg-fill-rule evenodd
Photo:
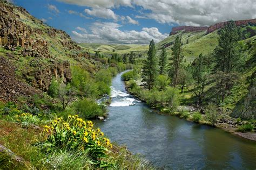
<path fill-rule="evenodd" d="M 228 22 L 222 22 L 217 23 L 214 25 L 211 25 L 209 27 L 207 26 L 176 26 L 172 28 L 172 31 L 170 32 L 169 36 L 174 35 L 177 33 L 177 31 L 184 30 L 185 32 L 198 32 L 198 31 L 207 31 L 207 33 L 211 33 L 215 30 L 221 29 L 225 25 L 227 25 Z M 246 25 L 248 23 L 256 24 L 256 19 L 248 19 L 248 20 L 236 20 L 235 24 L 237 26 Z"/>

